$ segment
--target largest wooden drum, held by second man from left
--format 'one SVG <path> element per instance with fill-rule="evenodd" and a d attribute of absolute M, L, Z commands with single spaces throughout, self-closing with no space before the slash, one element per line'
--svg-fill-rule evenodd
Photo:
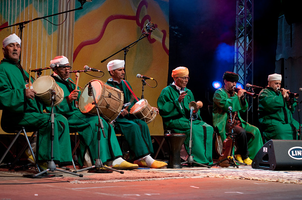
<path fill-rule="evenodd" d="M 105 84 L 101 80 L 92 80 L 90 82 L 93 87 L 93 92 L 99 107 L 100 115 L 102 115 L 102 117 L 108 122 L 115 120 L 123 107 L 123 92 Z M 92 104 L 94 102 L 93 96 L 88 95 L 88 86 L 89 84 L 86 84 L 81 93 L 79 99 L 79 109 L 82 113 L 97 115 L 97 109 L 95 105 Z"/>

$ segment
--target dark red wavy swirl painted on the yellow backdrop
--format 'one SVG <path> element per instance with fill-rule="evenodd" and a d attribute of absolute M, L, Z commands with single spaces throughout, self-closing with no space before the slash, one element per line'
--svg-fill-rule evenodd
<path fill-rule="evenodd" d="M 136 11 L 136 15 L 135 16 L 130 16 L 130 15 L 119 15 L 119 14 L 116 14 L 116 15 L 111 15 L 109 17 L 107 17 L 107 19 L 104 21 L 104 24 L 101 28 L 101 32 L 99 34 L 99 36 L 97 38 L 94 38 L 94 39 L 90 39 L 90 40 L 84 40 L 82 41 L 77 47 L 76 49 L 74 50 L 73 52 L 73 62 L 75 61 L 77 55 L 79 54 L 79 52 L 82 50 L 82 48 L 84 46 L 87 46 L 87 45 L 92 45 L 92 44 L 95 44 L 97 42 L 99 42 L 101 40 L 101 38 L 103 37 L 104 35 L 104 32 L 106 30 L 106 27 L 107 25 L 109 24 L 109 22 L 113 21 L 113 20 L 116 20 L 116 19 L 126 19 L 126 20 L 135 20 L 136 21 L 136 24 L 141 28 L 143 29 L 144 28 L 144 24 L 147 20 L 149 20 L 149 22 L 151 21 L 151 16 L 150 15 L 145 15 L 142 19 L 142 22 L 140 23 L 140 20 L 139 20 L 139 16 L 140 16 L 140 13 L 141 13 L 141 10 L 142 10 L 142 7 L 143 6 L 146 6 L 146 8 L 148 8 L 148 2 L 147 0 L 142 0 L 137 8 L 137 11 Z M 157 25 L 154 24 L 154 27 L 157 28 Z M 163 38 L 162 38 L 162 41 L 161 41 L 161 44 L 162 44 L 162 47 L 164 49 L 164 51 L 166 52 L 167 55 L 169 55 L 169 49 L 166 47 L 165 45 L 165 40 L 166 40 L 166 31 L 165 30 L 162 30 L 161 31 L 163 33 Z M 145 32 L 146 33 L 146 32 Z M 148 36 L 148 40 L 150 43 L 154 43 L 156 40 L 155 39 L 151 39 L 151 34 L 149 34 Z"/>

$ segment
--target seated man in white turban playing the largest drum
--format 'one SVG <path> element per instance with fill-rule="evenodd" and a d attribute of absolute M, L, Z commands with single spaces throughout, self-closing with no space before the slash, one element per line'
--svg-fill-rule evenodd
<path fill-rule="evenodd" d="M 90 160 L 98 159 L 98 127 L 99 117 L 90 114 L 83 114 L 78 108 L 80 98 L 80 90 L 75 88 L 75 83 L 69 78 L 69 61 L 65 56 L 56 56 L 50 61 L 50 64 L 64 65 L 66 67 L 55 67 L 53 75 L 51 76 L 56 83 L 63 89 L 65 98 L 62 102 L 53 108 L 54 113 L 59 113 L 65 116 L 68 120 L 70 128 L 77 130 L 80 135 L 80 149 L 79 164 L 83 166 L 86 151 L 89 152 Z M 122 159 L 122 152 L 119 147 L 113 127 L 102 120 L 104 138 L 101 132 L 100 141 L 100 159 L 102 162 L 112 161 L 112 168 L 115 169 L 136 169 L 137 164 L 132 164 Z M 88 159 L 89 160 L 89 159 Z"/>

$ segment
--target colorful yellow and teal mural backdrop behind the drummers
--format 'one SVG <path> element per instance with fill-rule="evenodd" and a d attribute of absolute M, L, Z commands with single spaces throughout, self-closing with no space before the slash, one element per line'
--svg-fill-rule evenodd
<path fill-rule="evenodd" d="M 67 2 L 70 3 L 68 6 Z M 65 11 L 72 8 L 70 6 L 78 8 L 81 4 L 78 1 L 73 1 L 72 4 L 67 0 L 20 0 L 19 3 L 15 0 L 3 0 L 0 3 L 0 27 Z M 69 13 L 66 21 L 60 26 L 51 23 L 62 23 L 66 14 L 51 17 L 49 21 L 29 22 L 22 35 L 21 64 L 27 71 L 29 67 L 49 67 L 53 57 L 66 52 L 65 56 L 68 57 L 72 70 L 83 70 L 83 67 L 88 65 L 104 72 L 89 73 L 95 77 L 81 73 L 79 86 L 85 87 L 90 80 L 106 82 L 110 78 L 106 68 L 109 61 L 126 59 L 126 78 L 138 97 L 142 95 L 142 81 L 136 77 L 137 74 L 152 77 L 157 81 L 156 86 L 156 81 L 147 80 L 151 87 L 144 87 L 145 99 L 151 106 L 156 107 L 157 97 L 167 85 L 168 12 L 168 0 L 93 0 L 84 3 L 83 9 Z M 139 40 L 142 32 L 146 32 L 144 27 L 149 22 L 154 24 L 155 30 L 147 38 Z M 12 33 L 18 35 L 17 28 L 0 30 L 0 40 Z M 137 40 L 137 43 L 128 46 Z M 125 47 L 126 52 L 120 51 Z M 116 54 L 101 62 L 114 53 Z M 2 57 L 1 55 L 0 58 Z M 45 70 L 42 76 L 50 74 L 50 70 Z M 37 77 L 35 74 L 32 76 Z M 100 76 L 102 77 L 98 78 Z M 75 80 L 74 74 L 71 78 Z M 148 125 L 151 135 L 163 134 L 160 116 Z"/>

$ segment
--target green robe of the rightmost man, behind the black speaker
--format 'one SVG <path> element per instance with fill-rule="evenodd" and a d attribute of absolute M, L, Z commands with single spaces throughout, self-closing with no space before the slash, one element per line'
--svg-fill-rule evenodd
<path fill-rule="evenodd" d="M 293 140 L 299 122 L 293 119 L 297 102 L 291 108 L 280 91 L 266 87 L 259 93 L 259 122 L 265 140 Z M 294 127 L 293 127 L 294 126 Z"/>

